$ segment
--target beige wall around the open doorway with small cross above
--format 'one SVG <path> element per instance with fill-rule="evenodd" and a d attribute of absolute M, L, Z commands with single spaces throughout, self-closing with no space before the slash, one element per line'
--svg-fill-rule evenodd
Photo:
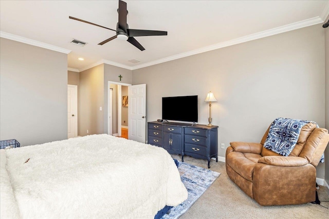
<path fill-rule="evenodd" d="M 120 78 L 118 77 L 121 74 L 122 79 L 120 81 Z M 119 68 L 116 66 L 111 66 L 104 64 L 104 133 L 107 133 L 107 122 L 108 122 L 108 116 L 107 116 L 107 87 L 108 82 L 116 82 L 116 83 L 123 83 L 123 84 L 133 84 L 133 75 L 132 71 L 128 69 Z M 116 127 L 117 129 L 117 127 Z M 115 132 L 113 132 L 115 133 Z"/>

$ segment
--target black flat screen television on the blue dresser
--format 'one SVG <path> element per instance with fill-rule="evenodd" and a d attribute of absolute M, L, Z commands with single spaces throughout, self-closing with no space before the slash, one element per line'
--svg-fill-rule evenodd
<path fill-rule="evenodd" d="M 162 120 L 197 122 L 197 95 L 162 97 Z"/>

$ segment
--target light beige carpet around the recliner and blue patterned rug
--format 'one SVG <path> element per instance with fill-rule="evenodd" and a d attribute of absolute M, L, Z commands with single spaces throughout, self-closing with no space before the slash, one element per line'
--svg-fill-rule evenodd
<path fill-rule="evenodd" d="M 180 155 L 172 155 L 181 161 Z M 207 168 L 207 161 L 184 156 L 184 162 Z M 329 218 L 329 209 L 316 204 L 260 206 L 237 187 L 226 174 L 225 163 L 211 160 L 210 169 L 221 176 L 179 219 L 185 218 Z M 329 190 L 320 186 L 320 201 L 329 201 Z M 329 202 L 321 202 L 329 207 Z"/>

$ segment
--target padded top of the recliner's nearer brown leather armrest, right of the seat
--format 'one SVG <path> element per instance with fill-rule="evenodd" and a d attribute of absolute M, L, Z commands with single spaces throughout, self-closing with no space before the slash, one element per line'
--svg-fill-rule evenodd
<path fill-rule="evenodd" d="M 299 156 L 263 156 L 258 163 L 280 167 L 301 167 L 308 164 L 308 161 Z"/>

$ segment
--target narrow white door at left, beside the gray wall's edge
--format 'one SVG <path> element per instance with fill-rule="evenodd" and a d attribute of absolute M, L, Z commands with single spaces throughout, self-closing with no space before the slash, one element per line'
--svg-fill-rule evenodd
<path fill-rule="evenodd" d="M 78 136 L 78 86 L 67 85 L 67 138 Z"/>

